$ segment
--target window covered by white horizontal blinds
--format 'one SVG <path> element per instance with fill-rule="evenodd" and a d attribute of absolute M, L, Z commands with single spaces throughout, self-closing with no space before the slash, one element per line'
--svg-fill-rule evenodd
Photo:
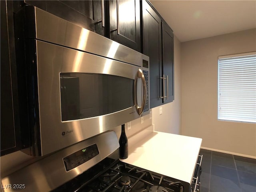
<path fill-rule="evenodd" d="M 256 52 L 219 56 L 218 120 L 256 122 Z"/>

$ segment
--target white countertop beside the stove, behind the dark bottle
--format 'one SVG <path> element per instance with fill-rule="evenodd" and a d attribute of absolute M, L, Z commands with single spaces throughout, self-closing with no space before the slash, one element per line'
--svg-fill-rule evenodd
<path fill-rule="evenodd" d="M 201 138 L 144 130 L 128 138 L 123 162 L 191 184 Z"/>

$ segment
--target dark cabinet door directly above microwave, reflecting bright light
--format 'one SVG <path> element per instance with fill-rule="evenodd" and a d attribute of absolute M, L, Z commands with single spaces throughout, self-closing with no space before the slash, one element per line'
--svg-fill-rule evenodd
<path fill-rule="evenodd" d="M 140 1 L 110 0 L 110 39 L 140 52 Z"/>

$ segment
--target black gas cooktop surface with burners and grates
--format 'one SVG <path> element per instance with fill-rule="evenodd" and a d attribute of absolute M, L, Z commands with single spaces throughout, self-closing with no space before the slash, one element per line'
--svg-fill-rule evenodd
<path fill-rule="evenodd" d="M 54 192 L 182 192 L 178 180 L 106 158 Z"/>

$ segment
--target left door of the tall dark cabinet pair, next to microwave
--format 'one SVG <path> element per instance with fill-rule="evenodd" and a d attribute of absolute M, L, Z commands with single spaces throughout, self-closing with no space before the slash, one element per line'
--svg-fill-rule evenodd
<path fill-rule="evenodd" d="M 150 59 L 150 108 L 162 104 L 162 27 L 161 18 L 148 4 L 142 2 L 143 54 Z"/>

